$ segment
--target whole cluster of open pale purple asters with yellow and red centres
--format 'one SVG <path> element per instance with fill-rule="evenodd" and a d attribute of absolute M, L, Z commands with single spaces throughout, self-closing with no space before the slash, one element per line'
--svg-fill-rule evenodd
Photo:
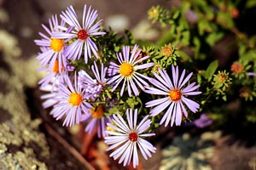
<path fill-rule="evenodd" d="M 44 108 L 51 108 L 50 115 L 62 120 L 63 126 L 84 123 L 85 132 L 96 129 L 109 145 L 107 150 L 113 150 L 110 156 L 124 166 L 132 161 L 137 167 L 138 150 L 145 159 L 155 152 L 146 140 L 154 136 L 149 133 L 154 130 L 153 117 L 160 124 L 165 122 L 165 127 L 180 126 L 189 111 L 199 111 L 200 105 L 189 99 L 201 94 L 200 85 L 189 82 L 192 73 L 186 76 L 183 70 L 180 75 L 176 61 L 176 66 L 156 68 L 157 59 L 137 44 L 122 45 L 118 52 L 112 44 L 103 45 L 101 39 L 108 35 L 95 9 L 84 5 L 81 23 L 70 6 L 43 28 L 47 34 L 39 32 L 41 39 L 35 43 L 41 49 L 36 57 L 39 70 L 47 71 L 39 82 L 46 93 L 42 95 Z M 165 48 L 165 58 L 175 52 L 169 48 Z M 113 55 L 104 55 L 107 50 Z"/>

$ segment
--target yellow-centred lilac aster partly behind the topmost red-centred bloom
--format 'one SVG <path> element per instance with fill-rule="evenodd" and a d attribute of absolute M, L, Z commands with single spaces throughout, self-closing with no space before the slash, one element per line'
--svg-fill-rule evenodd
<path fill-rule="evenodd" d="M 61 21 L 61 26 L 64 26 L 64 24 Z M 63 55 L 63 51 L 66 48 L 65 41 L 61 38 L 53 38 L 53 32 L 60 31 L 56 29 L 59 26 L 57 15 L 53 15 L 51 20 L 49 19 L 49 28 L 44 25 L 42 26 L 49 36 L 39 32 L 42 39 L 35 40 L 35 43 L 41 47 L 42 53 L 38 54 L 36 59 L 39 60 L 39 64 L 43 67 L 48 65 L 50 70 L 54 68 L 55 61 L 57 60 L 59 62 L 59 70 L 61 71 L 61 65 L 64 67 L 67 65 L 67 59 Z"/>

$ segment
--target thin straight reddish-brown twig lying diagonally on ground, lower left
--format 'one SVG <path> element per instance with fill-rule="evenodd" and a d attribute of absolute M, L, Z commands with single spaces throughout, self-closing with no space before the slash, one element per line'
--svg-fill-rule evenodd
<path fill-rule="evenodd" d="M 45 122 L 44 127 L 47 130 L 47 132 L 53 138 L 55 138 L 60 144 L 62 144 L 78 161 L 80 161 L 84 165 L 84 167 L 87 167 L 90 170 L 95 170 L 95 168 L 92 167 L 90 163 L 84 159 L 84 157 L 79 153 L 79 151 L 76 150 L 72 145 L 68 144 L 67 141 L 63 139 L 59 133 L 55 132 L 55 130 L 52 127 L 50 127 Z"/>

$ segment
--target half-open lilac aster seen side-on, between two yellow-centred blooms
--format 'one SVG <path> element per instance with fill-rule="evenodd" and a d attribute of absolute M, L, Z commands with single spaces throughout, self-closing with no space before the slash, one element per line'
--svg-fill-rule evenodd
<path fill-rule="evenodd" d="M 91 65 L 91 71 L 96 79 L 90 77 L 90 75 L 84 70 L 79 71 L 79 85 L 85 89 L 85 92 L 89 95 L 90 99 L 95 100 L 96 97 L 102 93 L 102 90 L 108 81 L 106 78 L 107 70 L 108 67 L 104 67 L 102 64 L 100 74 L 96 62 L 94 62 L 94 65 Z"/>

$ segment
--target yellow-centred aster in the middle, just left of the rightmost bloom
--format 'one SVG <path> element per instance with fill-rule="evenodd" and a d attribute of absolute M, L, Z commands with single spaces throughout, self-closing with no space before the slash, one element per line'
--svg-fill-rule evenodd
<path fill-rule="evenodd" d="M 144 89 L 143 86 L 148 86 L 148 83 L 143 79 L 148 79 L 148 77 L 137 72 L 139 70 L 146 69 L 154 65 L 154 63 L 141 64 L 145 59 L 148 59 L 149 56 L 143 56 L 138 58 L 141 50 L 138 50 L 138 46 L 135 45 L 132 51 L 130 51 L 129 46 L 123 47 L 123 54 L 117 54 L 119 60 L 119 65 L 110 62 L 108 68 L 108 75 L 113 76 L 109 78 L 108 83 L 113 83 L 112 92 L 119 86 L 119 83 L 123 82 L 120 95 L 122 96 L 125 91 L 125 85 L 128 88 L 128 94 L 131 96 L 131 89 L 135 95 L 139 95 L 137 86 L 141 89 Z"/>

